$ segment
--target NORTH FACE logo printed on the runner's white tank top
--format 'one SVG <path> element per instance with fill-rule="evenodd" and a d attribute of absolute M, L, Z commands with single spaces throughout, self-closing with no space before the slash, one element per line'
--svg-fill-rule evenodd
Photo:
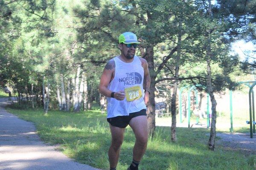
<path fill-rule="evenodd" d="M 124 85 L 141 84 L 142 76 L 137 72 L 125 73 L 126 77 L 119 78 L 119 82 L 124 82 Z"/>

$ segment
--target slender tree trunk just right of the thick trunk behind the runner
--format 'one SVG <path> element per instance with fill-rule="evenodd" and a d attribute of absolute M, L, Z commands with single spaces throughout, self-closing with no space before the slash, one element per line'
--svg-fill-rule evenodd
<path fill-rule="evenodd" d="M 171 112 L 172 112 L 172 127 L 171 127 L 171 140 L 172 142 L 177 141 L 176 137 L 176 97 L 177 97 L 177 89 L 179 83 L 179 69 L 180 69 L 180 53 L 181 53 L 181 22 L 179 22 L 179 33 L 178 33 L 178 42 L 177 42 L 177 57 L 175 63 L 175 82 L 172 93 L 172 104 L 171 104 Z"/>

